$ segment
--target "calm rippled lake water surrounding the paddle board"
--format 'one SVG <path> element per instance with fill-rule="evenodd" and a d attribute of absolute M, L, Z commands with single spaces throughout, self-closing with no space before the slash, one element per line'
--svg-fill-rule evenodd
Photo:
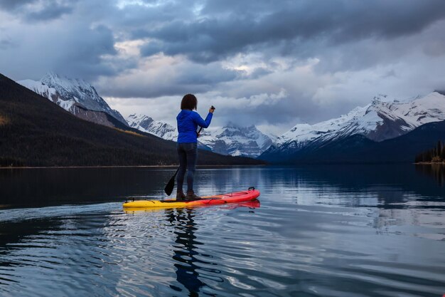
<path fill-rule="evenodd" d="M 124 212 L 173 172 L 0 170 L 0 296 L 445 294 L 441 170 L 200 169 L 198 194 L 259 203 Z"/>

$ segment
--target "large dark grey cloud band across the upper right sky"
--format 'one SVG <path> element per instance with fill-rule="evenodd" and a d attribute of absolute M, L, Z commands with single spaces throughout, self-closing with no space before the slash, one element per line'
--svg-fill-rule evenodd
<path fill-rule="evenodd" d="M 290 48 L 299 49 L 308 41 L 333 46 L 365 38 L 397 38 L 422 31 L 444 17 L 442 0 L 305 0 L 279 5 L 266 0 L 207 1 L 199 18 L 188 16 L 134 33 L 158 41 L 142 48 L 146 56 L 162 51 L 208 63 L 277 46 L 282 54 L 299 55 L 301 51 Z"/>

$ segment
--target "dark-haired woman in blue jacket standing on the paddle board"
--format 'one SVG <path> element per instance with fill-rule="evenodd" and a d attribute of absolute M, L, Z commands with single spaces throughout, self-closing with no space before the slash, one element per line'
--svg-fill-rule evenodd
<path fill-rule="evenodd" d="M 215 108 L 208 110 L 208 115 L 203 120 L 196 110 L 198 100 L 195 95 L 187 94 L 181 101 L 181 112 L 176 117 L 178 121 L 178 155 L 179 170 L 176 182 L 178 189 L 176 192 L 176 200 L 198 200 L 200 197 L 195 195 L 193 191 L 193 177 L 195 174 L 196 159 L 198 154 L 198 126 L 206 128 L 210 125 L 213 111 Z M 187 196 L 183 192 L 184 176 L 187 170 Z"/>

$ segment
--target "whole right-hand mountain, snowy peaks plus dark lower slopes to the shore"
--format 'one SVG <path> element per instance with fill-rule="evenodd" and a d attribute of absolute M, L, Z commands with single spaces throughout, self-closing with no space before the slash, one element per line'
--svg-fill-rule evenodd
<path fill-rule="evenodd" d="M 434 145 L 445 137 L 440 134 L 444 120 L 445 95 L 439 92 L 402 102 L 388 101 L 387 96 L 380 95 L 369 105 L 355 108 L 340 118 L 292 127 L 259 159 L 269 162 L 413 162 L 417 152 L 411 152 L 412 148 L 424 150 L 431 142 Z M 417 143 L 418 140 L 422 142 Z M 409 143 L 417 145 L 402 147 Z"/>

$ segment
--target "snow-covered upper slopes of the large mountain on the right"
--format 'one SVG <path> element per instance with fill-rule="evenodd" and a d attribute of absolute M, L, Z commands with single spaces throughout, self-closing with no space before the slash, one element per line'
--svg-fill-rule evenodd
<path fill-rule="evenodd" d="M 369 105 L 355 108 L 340 118 L 314 125 L 295 125 L 279 136 L 264 154 L 289 154 L 351 135 L 363 135 L 381 142 L 442 120 L 445 120 L 445 95 L 441 93 L 433 92 L 404 102 L 388 102 L 386 95 L 379 95 Z"/>

